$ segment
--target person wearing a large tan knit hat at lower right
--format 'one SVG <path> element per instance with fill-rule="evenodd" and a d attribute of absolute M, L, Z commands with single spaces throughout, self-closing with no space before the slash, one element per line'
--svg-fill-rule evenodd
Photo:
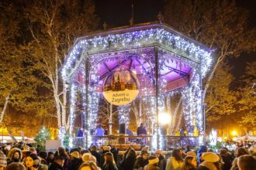
<path fill-rule="evenodd" d="M 221 170 L 220 157 L 216 153 L 205 152 L 202 154 L 202 160 L 198 170 Z"/>

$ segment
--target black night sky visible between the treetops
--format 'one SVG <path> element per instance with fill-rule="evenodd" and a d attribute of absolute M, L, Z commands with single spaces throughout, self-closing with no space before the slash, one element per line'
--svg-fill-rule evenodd
<path fill-rule="evenodd" d="M 165 0 L 95 0 L 96 14 L 100 18 L 100 27 L 106 22 L 109 28 L 129 25 L 131 4 L 134 8 L 134 23 L 157 21 L 158 12 L 164 12 Z M 256 28 L 256 1 L 237 0 L 237 5 L 250 11 L 250 26 Z M 237 59 L 230 59 L 234 75 L 238 78 L 243 75 L 247 62 L 256 60 L 256 53 L 242 53 Z"/>

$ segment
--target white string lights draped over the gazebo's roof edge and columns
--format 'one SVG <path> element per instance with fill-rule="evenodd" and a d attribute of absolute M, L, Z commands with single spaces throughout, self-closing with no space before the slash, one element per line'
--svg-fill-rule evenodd
<path fill-rule="evenodd" d="M 85 115 L 86 108 L 88 109 L 88 130 L 94 128 L 97 121 L 99 111 L 99 98 L 102 97 L 99 88 L 102 88 L 102 80 L 100 80 L 99 67 L 102 61 L 108 62 L 116 59 L 126 59 L 131 54 L 140 56 L 147 61 L 143 74 L 140 75 L 140 80 L 145 80 L 145 86 L 141 86 L 140 93 L 143 95 L 142 101 L 144 105 L 144 113 L 147 119 L 144 120 L 146 126 L 151 127 L 153 134 L 152 147 L 156 148 L 157 142 L 164 141 L 163 134 L 160 129 L 154 129 L 156 122 L 156 98 L 154 90 L 150 86 L 154 85 L 154 48 L 147 47 L 159 44 L 159 73 L 164 74 L 169 70 L 166 63 L 173 63 L 177 69 L 191 68 L 188 75 L 189 85 L 173 91 L 164 91 L 164 87 L 168 84 L 166 76 L 161 76 L 159 80 L 160 95 L 158 96 L 158 111 L 165 111 L 164 97 L 172 97 L 179 93 L 182 95 L 182 114 L 185 115 L 185 126 L 192 134 L 192 128 L 195 126 L 200 131 L 199 143 L 202 144 L 203 126 L 202 126 L 202 98 L 200 89 L 201 78 L 206 76 L 211 64 L 211 52 L 204 47 L 195 44 L 185 37 L 179 36 L 176 32 L 170 32 L 161 28 L 148 28 L 140 31 L 131 31 L 124 33 L 112 33 L 108 36 L 95 36 L 89 39 L 79 39 L 73 46 L 65 61 L 62 77 L 64 81 L 72 80 L 71 76 L 75 76 L 82 68 L 85 70 L 85 57 L 89 57 L 90 73 L 89 80 L 99 80 L 95 86 L 88 86 L 88 106 L 86 106 L 85 84 L 78 85 L 75 81 L 71 82 L 71 97 L 70 97 L 70 134 L 74 128 L 74 110 L 78 92 L 81 92 L 83 100 L 82 114 Z M 88 54 L 90 54 L 88 56 Z M 87 56 L 85 56 L 87 55 Z M 107 56 L 108 55 L 108 56 Z M 82 57 L 81 57 L 82 56 Z M 147 64 L 147 66 L 146 66 Z M 201 65 L 201 66 L 200 66 Z M 140 68 L 141 69 L 141 68 Z M 85 71 L 81 74 L 85 76 Z M 150 77 L 150 78 L 149 78 Z M 147 80 L 147 82 L 146 82 Z M 180 104 L 177 104 L 175 110 L 178 110 Z M 130 104 L 119 107 L 119 121 L 129 122 Z M 170 110 L 170 109 L 168 109 Z M 85 122 L 84 120 L 84 122 Z M 195 124 L 193 122 L 195 121 Z M 174 126 L 174 124 L 173 124 Z M 172 127 L 174 128 L 174 127 Z M 159 134 L 159 140 L 156 141 L 156 135 Z M 89 131 L 85 131 L 88 136 L 88 144 L 91 144 L 92 138 Z M 71 141 L 72 143 L 72 141 Z M 72 145 L 70 143 L 70 145 Z M 163 148 L 163 144 L 160 148 Z"/>

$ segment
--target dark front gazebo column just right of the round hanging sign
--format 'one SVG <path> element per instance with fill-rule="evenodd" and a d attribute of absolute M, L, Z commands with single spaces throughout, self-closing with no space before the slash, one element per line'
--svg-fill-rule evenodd
<path fill-rule="evenodd" d="M 156 102 L 156 118 L 157 118 L 157 149 L 159 149 L 159 120 L 158 120 L 158 96 L 159 96 L 159 87 L 158 87 L 158 78 L 159 78 L 159 70 L 158 70 L 158 48 L 154 47 L 154 79 L 155 79 L 155 102 Z"/>

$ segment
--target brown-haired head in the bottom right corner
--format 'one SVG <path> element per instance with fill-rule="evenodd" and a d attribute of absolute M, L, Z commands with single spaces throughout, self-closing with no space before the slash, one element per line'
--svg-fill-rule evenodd
<path fill-rule="evenodd" d="M 239 170 L 254 170 L 256 169 L 256 159 L 251 155 L 242 155 L 237 162 Z"/>

